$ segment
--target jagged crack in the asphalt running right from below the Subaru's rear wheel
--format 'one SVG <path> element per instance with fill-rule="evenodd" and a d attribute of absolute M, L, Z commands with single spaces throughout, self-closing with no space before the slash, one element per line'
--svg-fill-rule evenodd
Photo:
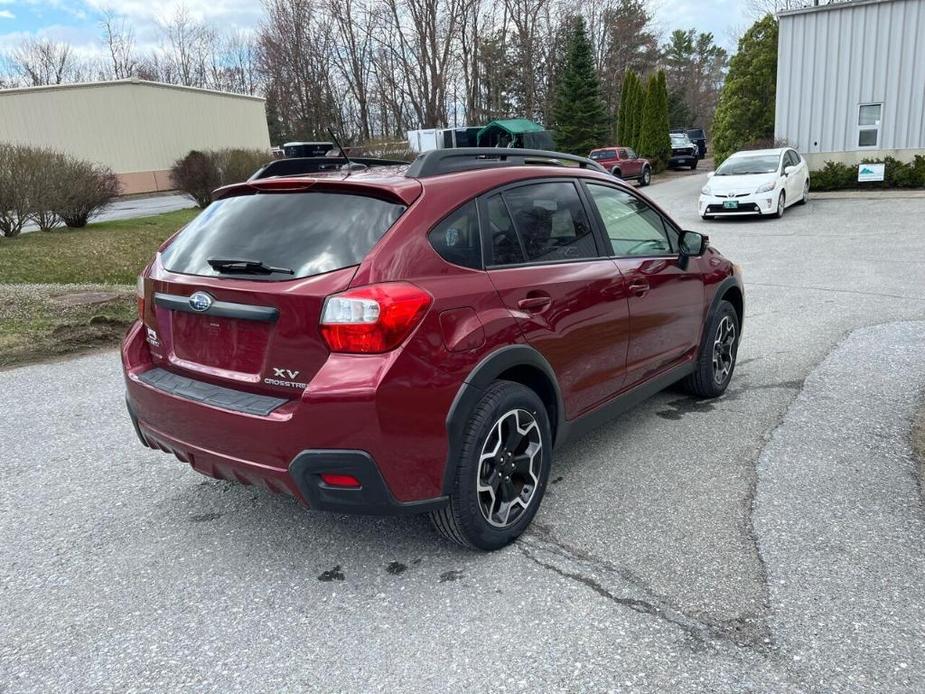
<path fill-rule="evenodd" d="M 734 620 L 711 622 L 703 617 L 690 615 L 672 605 L 664 596 L 658 595 L 631 571 L 558 540 L 550 528 L 535 521 L 529 534 L 518 539 L 516 544 L 521 554 L 537 566 L 580 583 L 610 602 L 639 614 L 656 617 L 681 629 L 694 651 L 713 650 L 715 642 L 724 642 L 776 660 L 770 629 L 758 616 L 745 615 Z M 558 557 L 569 566 L 563 568 L 544 560 L 538 556 L 540 552 Z M 620 596 L 595 578 L 594 574 L 614 574 L 632 588 L 641 591 L 644 597 Z M 762 576 L 766 581 L 765 571 L 762 571 Z"/>

